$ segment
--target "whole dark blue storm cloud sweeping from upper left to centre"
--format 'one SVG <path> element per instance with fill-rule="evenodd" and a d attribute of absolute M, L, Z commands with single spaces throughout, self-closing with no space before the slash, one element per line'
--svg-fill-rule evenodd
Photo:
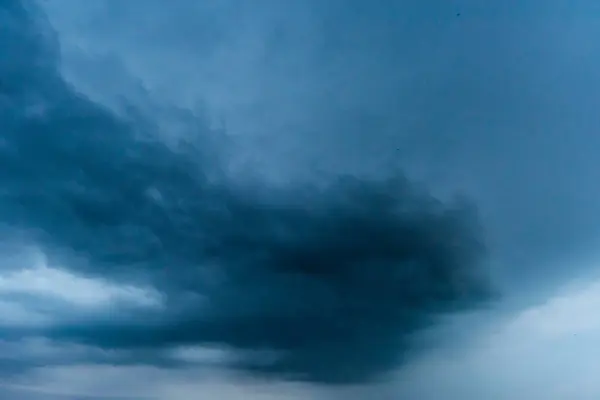
<path fill-rule="evenodd" d="M 61 79 L 37 11 L 0 8 L 3 238 L 166 299 L 161 311 L 45 335 L 157 354 L 223 345 L 246 372 L 362 382 L 400 365 L 437 315 L 489 295 L 468 202 L 443 203 L 401 176 L 240 183 L 224 172 L 225 138 L 201 117 L 153 113 L 191 135 L 167 143 L 148 114 L 95 104 Z"/>

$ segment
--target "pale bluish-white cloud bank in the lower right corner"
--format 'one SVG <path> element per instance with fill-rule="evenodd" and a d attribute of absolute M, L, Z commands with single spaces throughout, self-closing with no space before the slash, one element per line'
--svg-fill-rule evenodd
<path fill-rule="evenodd" d="M 460 349 L 433 350 L 393 386 L 413 398 L 600 398 L 600 281 L 569 285 L 496 323 Z"/>

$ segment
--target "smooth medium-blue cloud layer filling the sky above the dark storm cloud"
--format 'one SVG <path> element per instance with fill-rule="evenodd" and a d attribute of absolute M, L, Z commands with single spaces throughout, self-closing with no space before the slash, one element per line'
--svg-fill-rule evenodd
<path fill-rule="evenodd" d="M 593 2 L 45 3 L 69 82 L 107 104 L 139 99 L 132 81 L 208 103 L 238 169 L 287 181 L 400 165 L 435 193 L 464 190 L 511 289 L 556 285 L 572 270 L 552 260 L 595 248 Z"/>

